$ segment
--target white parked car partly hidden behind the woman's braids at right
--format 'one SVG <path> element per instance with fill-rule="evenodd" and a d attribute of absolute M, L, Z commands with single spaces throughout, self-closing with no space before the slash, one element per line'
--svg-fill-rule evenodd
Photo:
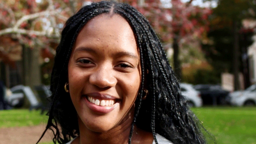
<path fill-rule="evenodd" d="M 193 88 L 192 84 L 181 83 L 181 95 L 187 99 L 187 104 L 190 107 L 202 107 L 202 99 L 200 92 Z"/>

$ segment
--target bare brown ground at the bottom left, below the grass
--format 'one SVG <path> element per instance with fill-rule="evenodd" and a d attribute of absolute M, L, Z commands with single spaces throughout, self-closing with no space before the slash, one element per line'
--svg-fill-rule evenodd
<path fill-rule="evenodd" d="M 0 144 L 36 144 L 45 125 L 31 127 L 0 128 Z M 40 142 L 52 140 L 53 133 L 48 130 Z"/>

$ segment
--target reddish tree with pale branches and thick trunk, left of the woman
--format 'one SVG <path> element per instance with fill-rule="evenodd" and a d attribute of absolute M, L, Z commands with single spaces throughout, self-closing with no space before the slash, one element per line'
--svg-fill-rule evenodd
<path fill-rule="evenodd" d="M 6 78 L 12 78 L 8 72 L 9 65 L 17 69 L 20 62 L 19 65 L 24 65 L 20 68 L 24 74 L 20 76 L 24 78 L 22 83 L 30 86 L 41 84 L 40 53 L 46 52 L 54 57 L 65 21 L 83 4 L 86 3 L 73 0 L 1 1 L 0 40 L 12 43 L 0 43 Z M 6 80 L 7 86 L 12 86 L 8 83 Z"/>

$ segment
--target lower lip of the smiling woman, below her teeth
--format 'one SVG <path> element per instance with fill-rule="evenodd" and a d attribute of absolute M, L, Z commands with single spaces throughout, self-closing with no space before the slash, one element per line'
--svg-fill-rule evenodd
<path fill-rule="evenodd" d="M 100 114 L 106 114 L 106 113 L 109 113 L 110 111 L 113 111 L 119 104 L 116 102 L 115 104 L 113 104 L 111 106 L 99 106 L 99 105 L 95 105 L 95 104 L 89 102 L 87 98 L 84 98 L 84 99 L 85 99 L 85 104 L 87 105 L 87 107 L 90 110 L 94 111 L 95 113 L 100 113 Z"/>

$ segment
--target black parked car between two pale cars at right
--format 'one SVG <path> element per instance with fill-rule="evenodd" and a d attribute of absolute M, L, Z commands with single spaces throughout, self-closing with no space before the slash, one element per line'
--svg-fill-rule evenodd
<path fill-rule="evenodd" d="M 203 105 L 225 105 L 229 91 L 214 84 L 197 84 L 194 88 L 201 93 Z"/>

